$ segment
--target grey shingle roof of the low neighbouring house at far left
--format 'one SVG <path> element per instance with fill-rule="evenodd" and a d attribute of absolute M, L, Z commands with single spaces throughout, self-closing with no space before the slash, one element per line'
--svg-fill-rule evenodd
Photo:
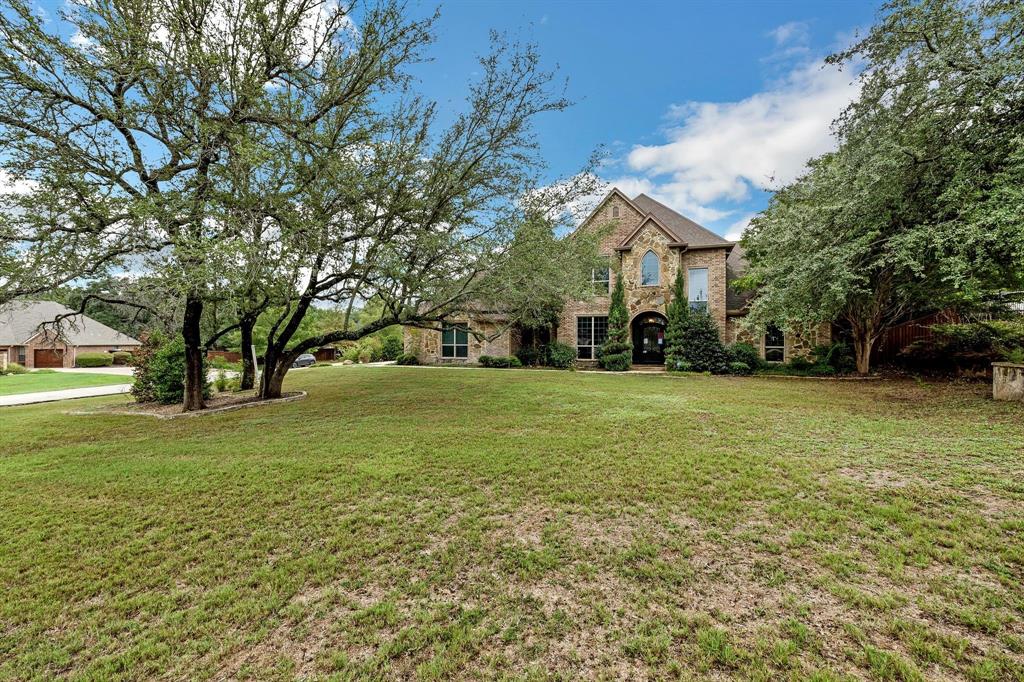
<path fill-rule="evenodd" d="M 138 346 L 136 339 L 101 325 L 91 317 L 53 301 L 13 301 L 0 307 L 0 345 L 19 346 L 44 329 L 55 330 L 57 315 L 72 314 L 60 322 L 63 340 L 73 346 Z M 45 326 L 45 327 L 41 327 Z"/>

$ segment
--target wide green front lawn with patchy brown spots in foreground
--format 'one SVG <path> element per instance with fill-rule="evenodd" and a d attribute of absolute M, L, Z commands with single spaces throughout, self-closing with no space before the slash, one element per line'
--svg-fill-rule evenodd
<path fill-rule="evenodd" d="M 1024 677 L 1024 406 L 983 385 L 288 388 L 2 413 L 0 677 Z"/>

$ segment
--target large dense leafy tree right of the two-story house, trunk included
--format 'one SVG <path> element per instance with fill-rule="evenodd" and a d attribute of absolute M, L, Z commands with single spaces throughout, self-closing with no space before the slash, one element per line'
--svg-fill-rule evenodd
<path fill-rule="evenodd" d="M 849 49 L 859 97 L 834 153 L 782 187 L 743 237 L 749 324 L 839 319 L 860 372 L 913 310 L 1019 282 L 1024 7 L 893 0 Z"/>

